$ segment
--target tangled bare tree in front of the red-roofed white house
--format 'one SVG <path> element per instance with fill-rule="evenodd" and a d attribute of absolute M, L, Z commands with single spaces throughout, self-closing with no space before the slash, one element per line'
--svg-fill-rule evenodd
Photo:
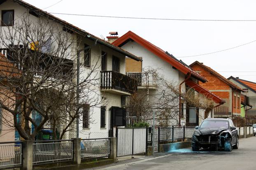
<path fill-rule="evenodd" d="M 129 116 L 136 116 L 143 121 L 151 121 L 152 113 L 155 111 L 155 120 L 159 126 L 167 127 L 179 125 L 179 96 L 189 106 L 194 106 L 205 110 L 205 119 L 209 112 L 214 108 L 212 99 L 204 95 L 199 95 L 193 88 L 187 88 L 185 92 L 179 92 L 178 84 L 169 82 L 165 77 L 158 73 L 158 69 L 146 68 L 143 71 L 146 77 L 146 87 L 144 90 L 137 91 L 130 98 L 127 104 Z M 149 93 L 149 75 L 154 77 L 157 90 Z"/>

